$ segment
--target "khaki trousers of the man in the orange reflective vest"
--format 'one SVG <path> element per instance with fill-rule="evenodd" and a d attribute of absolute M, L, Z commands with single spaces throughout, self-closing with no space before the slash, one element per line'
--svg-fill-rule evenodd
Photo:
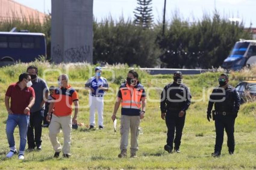
<path fill-rule="evenodd" d="M 131 153 L 138 151 L 138 136 L 139 136 L 139 116 L 126 116 L 121 115 L 121 142 L 120 149 L 127 149 L 128 147 L 128 137 L 129 131 L 131 129 Z"/>

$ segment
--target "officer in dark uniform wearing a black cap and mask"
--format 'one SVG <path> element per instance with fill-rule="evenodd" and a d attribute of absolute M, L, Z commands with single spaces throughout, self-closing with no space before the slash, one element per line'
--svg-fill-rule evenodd
<path fill-rule="evenodd" d="M 161 118 L 165 120 L 168 129 L 167 144 L 164 146 L 164 150 L 169 153 L 172 153 L 173 150 L 173 140 L 174 152 L 180 152 L 180 140 L 185 123 L 186 110 L 191 103 L 189 89 L 182 84 L 182 78 L 182 73 L 176 71 L 173 75 L 173 83 L 165 86 L 161 93 Z"/>

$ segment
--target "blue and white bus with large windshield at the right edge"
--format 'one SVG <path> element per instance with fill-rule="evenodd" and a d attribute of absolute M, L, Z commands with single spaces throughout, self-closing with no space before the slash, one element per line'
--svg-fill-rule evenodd
<path fill-rule="evenodd" d="M 240 70 L 244 66 L 256 64 L 256 40 L 237 41 L 230 55 L 224 60 L 222 67 Z"/>

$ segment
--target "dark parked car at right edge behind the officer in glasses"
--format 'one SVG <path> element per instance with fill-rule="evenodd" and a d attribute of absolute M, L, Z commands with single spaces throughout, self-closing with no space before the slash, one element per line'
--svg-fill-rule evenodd
<path fill-rule="evenodd" d="M 236 90 L 241 97 L 241 103 L 256 101 L 256 77 L 243 77 L 236 85 Z"/>

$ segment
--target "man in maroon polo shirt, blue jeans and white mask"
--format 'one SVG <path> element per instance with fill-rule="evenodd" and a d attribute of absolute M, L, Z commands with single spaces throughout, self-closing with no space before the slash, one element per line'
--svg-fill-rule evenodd
<path fill-rule="evenodd" d="M 6 121 L 6 135 L 10 152 L 6 157 L 11 158 L 17 149 L 14 141 L 14 129 L 18 125 L 20 131 L 19 159 L 24 159 L 24 151 L 27 143 L 27 127 L 29 125 L 30 108 L 35 103 L 35 92 L 31 87 L 31 77 L 28 73 L 22 73 L 17 83 L 11 84 L 5 94 L 5 107 L 8 111 Z M 10 100 L 11 98 L 11 107 Z"/>

